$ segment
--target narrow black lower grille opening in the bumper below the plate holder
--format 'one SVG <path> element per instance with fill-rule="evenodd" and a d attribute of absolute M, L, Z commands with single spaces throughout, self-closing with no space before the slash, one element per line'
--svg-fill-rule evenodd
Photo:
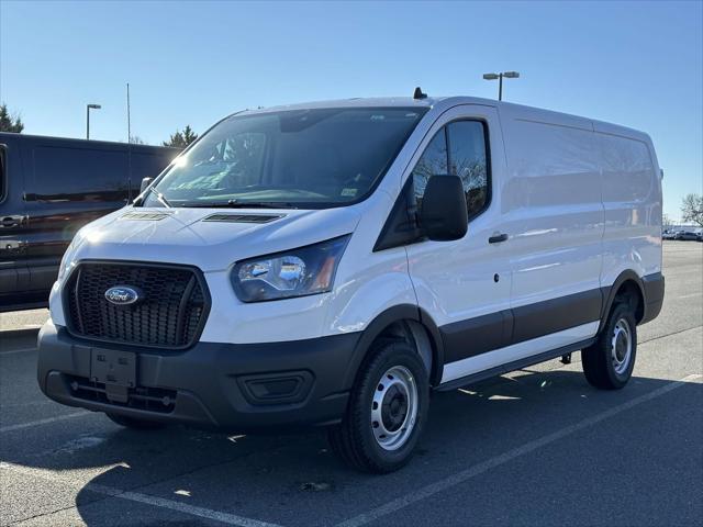
<path fill-rule="evenodd" d="M 101 382 L 92 382 L 85 377 L 69 377 L 68 381 L 72 395 L 83 401 L 96 401 L 102 404 L 145 410 L 159 414 L 170 414 L 176 407 L 176 390 L 146 386 L 131 388 L 127 390 L 127 402 L 118 403 L 108 399 L 105 385 Z"/>

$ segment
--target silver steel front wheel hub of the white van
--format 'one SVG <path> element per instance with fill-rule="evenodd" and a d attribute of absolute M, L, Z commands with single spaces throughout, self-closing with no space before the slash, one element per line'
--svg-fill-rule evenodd
<path fill-rule="evenodd" d="M 371 430 L 383 450 L 397 450 L 408 441 L 417 419 L 417 385 L 403 366 L 381 375 L 371 401 Z"/>

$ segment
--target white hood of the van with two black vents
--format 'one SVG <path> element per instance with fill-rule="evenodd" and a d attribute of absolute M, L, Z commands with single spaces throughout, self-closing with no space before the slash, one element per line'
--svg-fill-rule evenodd
<path fill-rule="evenodd" d="M 67 258 L 186 264 L 223 270 L 237 260 L 354 232 L 359 206 L 324 210 L 127 206 L 83 227 Z"/>

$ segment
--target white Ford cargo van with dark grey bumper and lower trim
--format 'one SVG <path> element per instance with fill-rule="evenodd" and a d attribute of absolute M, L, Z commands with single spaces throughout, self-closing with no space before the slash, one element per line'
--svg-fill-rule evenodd
<path fill-rule="evenodd" d="M 576 350 L 627 383 L 663 299 L 659 173 L 644 133 L 491 100 L 237 113 L 75 237 L 38 383 L 131 427 L 325 425 L 395 470 L 429 390 Z"/>

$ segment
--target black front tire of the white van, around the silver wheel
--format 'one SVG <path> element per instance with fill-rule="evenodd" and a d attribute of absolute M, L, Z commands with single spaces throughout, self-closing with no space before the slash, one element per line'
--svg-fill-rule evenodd
<path fill-rule="evenodd" d="M 371 407 L 375 395 L 379 396 L 376 392 L 381 391 L 382 375 L 392 368 L 405 369 L 412 374 L 417 396 L 415 399 L 416 416 L 414 425 L 411 425 L 412 429 L 410 426 L 404 426 L 412 419 L 403 421 L 403 425 L 400 425 L 401 431 L 408 428 L 408 433 L 403 431 L 408 435 L 398 448 L 389 450 L 383 448 L 375 436 L 371 425 Z M 428 374 L 423 361 L 411 346 L 401 341 L 380 343 L 370 351 L 369 359 L 359 371 L 342 424 L 328 431 L 327 438 L 332 450 L 346 464 L 362 472 L 386 474 L 406 464 L 413 455 L 427 416 L 429 404 L 427 378 Z M 387 395 L 391 397 L 390 389 L 383 397 Z M 377 407 L 373 406 L 373 410 Z M 404 415 L 410 413 L 411 407 L 413 405 L 409 403 Z"/>

